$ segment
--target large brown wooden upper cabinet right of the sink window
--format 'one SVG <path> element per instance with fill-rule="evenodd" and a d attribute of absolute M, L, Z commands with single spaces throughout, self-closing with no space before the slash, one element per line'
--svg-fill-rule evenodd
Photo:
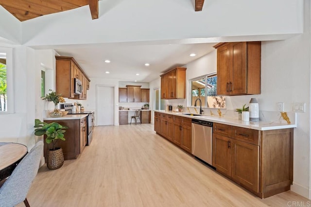
<path fill-rule="evenodd" d="M 217 94 L 260 94 L 261 42 L 219 43 Z"/>

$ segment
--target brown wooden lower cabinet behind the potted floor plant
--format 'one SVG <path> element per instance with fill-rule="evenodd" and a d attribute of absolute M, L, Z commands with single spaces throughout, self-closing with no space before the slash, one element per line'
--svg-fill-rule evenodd
<path fill-rule="evenodd" d="M 66 141 L 60 140 L 57 142 L 57 147 L 61 147 L 63 150 L 65 160 L 76 159 L 83 152 L 87 141 L 86 117 L 76 120 L 53 120 L 44 122 L 57 122 L 69 127 L 64 133 Z M 50 148 L 52 148 L 51 144 L 48 146 L 48 144 L 44 142 L 45 161 L 47 161 L 48 150 Z"/>

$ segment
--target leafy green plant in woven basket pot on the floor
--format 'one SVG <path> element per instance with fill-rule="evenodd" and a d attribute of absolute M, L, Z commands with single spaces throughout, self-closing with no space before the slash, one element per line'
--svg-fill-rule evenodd
<path fill-rule="evenodd" d="M 47 166 L 50 170 L 55 170 L 63 166 L 64 155 L 63 150 L 60 147 L 55 147 L 56 142 L 61 139 L 65 141 L 64 129 L 68 129 L 67 126 L 62 126 L 57 122 L 45 123 L 38 119 L 35 119 L 35 136 L 46 135 L 46 143 L 51 144 L 52 148 L 49 149 Z"/>

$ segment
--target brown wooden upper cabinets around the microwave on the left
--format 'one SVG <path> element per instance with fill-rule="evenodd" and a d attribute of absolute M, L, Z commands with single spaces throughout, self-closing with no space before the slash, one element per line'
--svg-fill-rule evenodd
<path fill-rule="evenodd" d="M 73 57 L 55 56 L 56 58 L 56 93 L 64 98 L 86 99 L 86 90 L 89 89 L 89 78 L 80 68 Z M 82 94 L 74 93 L 74 79 L 82 82 Z"/>

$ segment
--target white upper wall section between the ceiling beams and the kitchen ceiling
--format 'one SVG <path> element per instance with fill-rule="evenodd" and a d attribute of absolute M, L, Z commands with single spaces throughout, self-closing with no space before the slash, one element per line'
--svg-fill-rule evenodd
<path fill-rule="evenodd" d="M 24 21 L 23 43 L 68 45 L 207 37 L 217 42 L 215 37 L 295 34 L 303 31 L 303 0 L 212 0 L 204 4 L 202 12 L 194 12 L 190 0 L 99 1 L 99 16 L 92 20 L 88 6 L 84 6 Z"/>

